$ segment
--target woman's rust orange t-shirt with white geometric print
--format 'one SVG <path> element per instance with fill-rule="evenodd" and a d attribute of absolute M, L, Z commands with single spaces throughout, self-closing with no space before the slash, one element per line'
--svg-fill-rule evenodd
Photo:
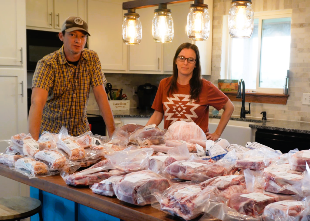
<path fill-rule="evenodd" d="M 205 133 L 209 131 L 209 106 L 221 110 L 228 97 L 210 81 L 202 79 L 202 90 L 199 95 L 199 102 L 190 101 L 190 86 L 177 83 L 178 89 L 174 94 L 167 97 L 167 91 L 171 77 L 160 81 L 152 108 L 164 114 L 164 128 L 175 121 L 184 120 L 195 122 Z"/>

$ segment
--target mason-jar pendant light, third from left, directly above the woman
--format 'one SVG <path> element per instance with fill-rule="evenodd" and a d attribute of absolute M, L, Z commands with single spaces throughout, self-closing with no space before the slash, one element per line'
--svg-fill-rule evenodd
<path fill-rule="evenodd" d="M 208 5 L 203 0 L 195 0 L 187 15 L 187 36 L 189 40 L 205 41 L 210 34 L 210 16 Z"/>

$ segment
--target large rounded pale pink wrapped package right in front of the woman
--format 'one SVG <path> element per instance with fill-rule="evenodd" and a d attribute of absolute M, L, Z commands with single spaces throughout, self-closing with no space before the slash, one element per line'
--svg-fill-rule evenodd
<path fill-rule="evenodd" d="M 185 122 L 179 120 L 171 124 L 167 130 L 171 134 L 172 140 L 183 140 L 190 142 L 189 140 L 206 140 L 206 134 L 203 130 L 194 122 Z"/>

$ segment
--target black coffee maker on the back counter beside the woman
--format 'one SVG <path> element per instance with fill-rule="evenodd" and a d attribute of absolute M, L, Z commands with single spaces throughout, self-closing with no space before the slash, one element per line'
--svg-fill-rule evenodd
<path fill-rule="evenodd" d="M 138 87 L 138 91 L 135 92 L 138 94 L 139 98 L 139 109 L 141 110 L 150 110 L 153 105 L 157 92 L 157 87 L 150 83 L 142 84 Z"/>

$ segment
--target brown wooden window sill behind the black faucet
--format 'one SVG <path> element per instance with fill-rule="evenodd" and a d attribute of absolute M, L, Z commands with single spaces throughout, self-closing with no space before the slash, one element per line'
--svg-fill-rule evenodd
<path fill-rule="evenodd" d="M 224 94 L 231 101 L 241 101 L 241 98 L 237 98 L 237 92 L 223 91 Z M 284 104 L 286 105 L 289 94 L 267 94 L 267 93 L 252 93 L 246 92 L 246 102 L 263 103 L 263 104 Z"/>

